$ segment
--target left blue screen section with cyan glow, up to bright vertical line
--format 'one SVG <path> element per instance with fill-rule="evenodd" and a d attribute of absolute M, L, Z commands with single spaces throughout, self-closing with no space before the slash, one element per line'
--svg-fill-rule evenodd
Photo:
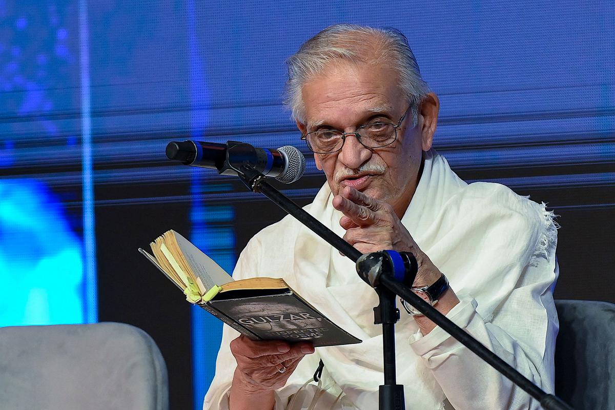
<path fill-rule="evenodd" d="M 95 321 L 79 10 L 2 2 L 0 15 L 0 326 Z"/>

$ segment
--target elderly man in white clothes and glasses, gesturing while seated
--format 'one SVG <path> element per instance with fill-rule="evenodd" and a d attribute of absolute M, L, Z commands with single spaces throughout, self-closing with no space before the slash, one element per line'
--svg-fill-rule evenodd
<path fill-rule="evenodd" d="M 499 184 L 464 183 L 432 149 L 438 98 L 403 34 L 331 26 L 290 58 L 287 86 L 301 138 L 327 176 L 306 210 L 363 253 L 414 253 L 414 286 L 431 286 L 416 292 L 551 392 L 558 326 L 553 215 Z M 250 341 L 225 326 L 204 408 L 378 408 L 378 298 L 354 264 L 287 217 L 241 254 L 234 277 L 255 275 L 284 278 L 363 342 L 314 352 L 306 343 Z M 405 307 L 395 337 L 408 409 L 539 407 Z M 320 359 L 325 373 L 310 384 Z"/>

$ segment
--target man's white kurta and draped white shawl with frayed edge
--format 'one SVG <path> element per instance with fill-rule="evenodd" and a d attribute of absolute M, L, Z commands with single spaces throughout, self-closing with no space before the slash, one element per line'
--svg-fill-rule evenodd
<path fill-rule="evenodd" d="M 402 223 L 450 282 L 461 302 L 446 317 L 547 392 L 554 388 L 558 321 L 552 297 L 557 279 L 553 214 L 544 204 L 493 183 L 466 184 L 435 151 Z M 327 184 L 306 210 L 337 234 L 341 213 Z M 259 232 L 242 252 L 233 277 L 281 277 L 361 344 L 319 347 L 276 392 L 276 410 L 309 380 L 322 358 L 330 384 L 316 409 L 378 408 L 383 383 L 381 326 L 373 324 L 378 297 L 354 264 L 287 216 Z M 402 310 L 395 326 L 397 383 L 407 409 L 538 409 L 539 404 L 437 327 L 423 336 Z M 236 361 L 229 342 L 239 333 L 224 326 L 216 376 L 204 409 L 228 409 Z M 302 395 L 314 395 L 314 385 Z M 300 400 L 301 401 L 301 400 Z M 311 397 L 306 398 L 307 408 Z M 295 403 L 293 408 L 301 408 Z M 351 407 L 352 408 L 352 407 Z"/>

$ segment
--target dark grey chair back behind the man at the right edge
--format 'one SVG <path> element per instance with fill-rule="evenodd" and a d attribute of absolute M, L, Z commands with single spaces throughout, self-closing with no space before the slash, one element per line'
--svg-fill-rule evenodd
<path fill-rule="evenodd" d="M 555 394 L 575 410 L 615 409 L 615 305 L 555 301 Z"/>

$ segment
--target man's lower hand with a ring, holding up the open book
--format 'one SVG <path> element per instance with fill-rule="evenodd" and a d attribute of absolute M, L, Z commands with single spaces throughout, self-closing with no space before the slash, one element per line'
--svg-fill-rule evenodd
<path fill-rule="evenodd" d="M 231 342 L 231 353 L 237 360 L 233 384 L 247 393 L 282 388 L 300 360 L 314 347 L 310 343 L 289 344 L 283 341 L 252 341 L 239 336 Z M 280 373 L 284 366 L 286 371 Z"/>

